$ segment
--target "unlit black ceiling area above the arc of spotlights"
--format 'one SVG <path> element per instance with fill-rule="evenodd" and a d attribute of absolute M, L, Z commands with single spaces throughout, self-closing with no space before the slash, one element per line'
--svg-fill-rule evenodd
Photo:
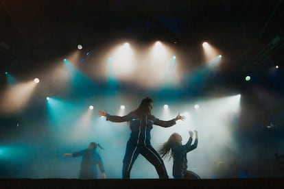
<path fill-rule="evenodd" d="M 121 38 L 158 38 L 194 49 L 208 40 L 226 56 L 224 75 L 255 71 L 278 92 L 284 89 L 265 73 L 283 64 L 281 0 L 0 2 L 2 73 L 44 68 L 78 43 L 91 48 Z"/>

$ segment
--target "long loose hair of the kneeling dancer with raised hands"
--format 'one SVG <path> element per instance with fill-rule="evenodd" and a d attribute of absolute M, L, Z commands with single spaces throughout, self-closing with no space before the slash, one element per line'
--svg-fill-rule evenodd
<path fill-rule="evenodd" d="M 163 159 L 168 158 L 169 160 L 171 160 L 171 158 L 173 157 L 173 151 L 171 149 L 176 145 L 180 145 L 178 140 L 176 140 L 177 136 L 179 136 L 179 134 L 177 133 L 171 134 L 167 142 L 163 143 L 158 148 L 158 153 L 161 155 Z"/>

